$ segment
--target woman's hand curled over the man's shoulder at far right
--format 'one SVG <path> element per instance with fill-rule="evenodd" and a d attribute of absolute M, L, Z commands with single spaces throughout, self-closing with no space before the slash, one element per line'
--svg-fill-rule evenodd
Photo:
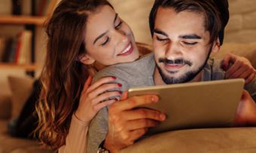
<path fill-rule="evenodd" d="M 256 71 L 248 59 L 238 55 L 225 55 L 221 66 L 226 71 L 226 79 L 243 78 L 245 84 L 251 83 L 256 75 Z"/>

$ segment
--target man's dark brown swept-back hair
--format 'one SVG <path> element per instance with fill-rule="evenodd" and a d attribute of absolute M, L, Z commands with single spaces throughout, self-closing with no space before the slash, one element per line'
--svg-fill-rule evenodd
<path fill-rule="evenodd" d="M 205 17 L 205 28 L 210 32 L 212 43 L 217 37 L 221 44 L 224 38 L 224 28 L 229 19 L 227 0 L 155 0 L 149 16 L 151 35 L 154 34 L 154 22 L 159 7 L 171 7 L 179 13 L 183 10 L 203 13 Z"/>

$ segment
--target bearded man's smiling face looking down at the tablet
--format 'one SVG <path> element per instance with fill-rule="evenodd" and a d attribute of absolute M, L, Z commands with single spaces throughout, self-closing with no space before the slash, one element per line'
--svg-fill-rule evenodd
<path fill-rule="evenodd" d="M 164 83 L 186 83 L 200 76 L 209 53 L 216 47 L 215 43 L 209 44 L 204 19 L 203 14 L 187 10 L 157 10 L 154 58 Z"/>

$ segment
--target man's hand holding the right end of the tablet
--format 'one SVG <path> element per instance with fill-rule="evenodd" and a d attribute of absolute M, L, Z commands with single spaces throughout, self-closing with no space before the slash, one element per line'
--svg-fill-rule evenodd
<path fill-rule="evenodd" d="M 242 91 L 242 98 L 236 112 L 236 124 L 256 124 L 256 104 L 247 91 Z"/>

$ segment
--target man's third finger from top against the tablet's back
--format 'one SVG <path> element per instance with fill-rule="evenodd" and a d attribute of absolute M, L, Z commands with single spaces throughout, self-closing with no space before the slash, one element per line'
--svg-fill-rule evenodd
<path fill-rule="evenodd" d="M 127 130 L 138 130 L 140 128 L 156 127 L 159 124 L 159 121 L 154 121 L 151 119 L 138 119 L 133 121 L 128 121 Z"/>

